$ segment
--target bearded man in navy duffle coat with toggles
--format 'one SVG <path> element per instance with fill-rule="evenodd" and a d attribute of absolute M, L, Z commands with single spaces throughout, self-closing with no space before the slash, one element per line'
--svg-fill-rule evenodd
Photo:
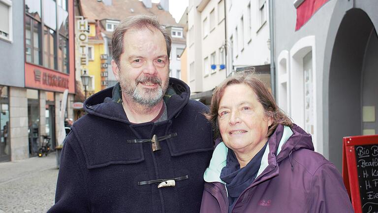
<path fill-rule="evenodd" d="M 90 97 L 62 151 L 51 213 L 199 212 L 213 150 L 207 110 L 169 78 L 171 39 L 135 16 L 112 39 L 119 83 Z"/>

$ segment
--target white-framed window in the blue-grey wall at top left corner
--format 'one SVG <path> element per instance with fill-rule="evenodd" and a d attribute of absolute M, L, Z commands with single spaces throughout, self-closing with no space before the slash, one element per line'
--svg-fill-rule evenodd
<path fill-rule="evenodd" d="M 12 1 L 0 0 L 0 38 L 12 41 Z"/>

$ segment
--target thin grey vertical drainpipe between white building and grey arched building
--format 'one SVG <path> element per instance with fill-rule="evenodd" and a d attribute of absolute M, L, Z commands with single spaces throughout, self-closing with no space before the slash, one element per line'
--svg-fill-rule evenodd
<path fill-rule="evenodd" d="M 274 66 L 274 16 L 273 16 L 273 0 L 269 0 L 269 33 L 270 33 L 270 82 L 272 86 L 272 95 L 276 97 L 276 77 Z"/>

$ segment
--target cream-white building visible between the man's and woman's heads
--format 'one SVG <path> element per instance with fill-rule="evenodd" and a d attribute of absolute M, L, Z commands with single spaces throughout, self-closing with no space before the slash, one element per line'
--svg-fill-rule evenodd
<path fill-rule="evenodd" d="M 225 64 L 225 40 L 224 0 L 189 0 L 187 67 L 191 98 L 209 104 L 212 90 L 226 77 L 226 69 L 220 68 Z"/>

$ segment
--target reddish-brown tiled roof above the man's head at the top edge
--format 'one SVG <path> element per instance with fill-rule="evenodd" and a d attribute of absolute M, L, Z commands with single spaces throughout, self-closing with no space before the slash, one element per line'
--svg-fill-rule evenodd
<path fill-rule="evenodd" d="M 147 8 L 139 0 L 112 0 L 112 5 L 105 5 L 97 0 L 79 2 L 82 15 L 90 21 L 103 19 L 121 21 L 128 16 L 144 14 L 157 16 L 159 23 L 164 26 L 180 26 L 168 11 L 158 8 L 158 3 L 152 3 L 152 8 Z"/>

